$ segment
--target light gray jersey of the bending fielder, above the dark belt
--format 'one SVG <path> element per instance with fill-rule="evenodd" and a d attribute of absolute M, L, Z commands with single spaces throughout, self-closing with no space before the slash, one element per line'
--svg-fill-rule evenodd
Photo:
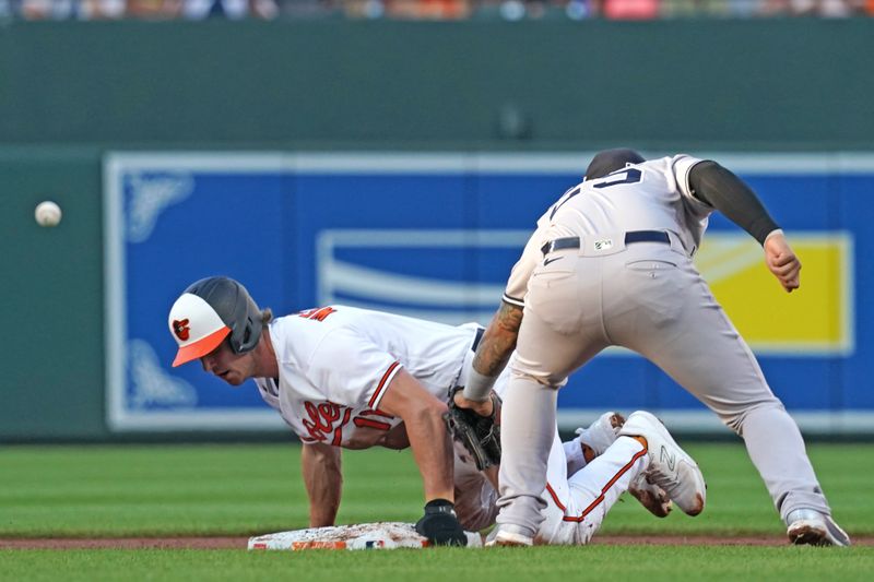
<path fill-rule="evenodd" d="M 692 195 L 688 174 L 701 162 L 680 154 L 628 165 L 603 178 L 584 180 L 553 204 L 510 273 L 504 300 L 524 306 L 528 280 L 543 260 L 541 247 L 557 238 L 631 230 L 671 230 L 694 254 L 713 207 Z"/>

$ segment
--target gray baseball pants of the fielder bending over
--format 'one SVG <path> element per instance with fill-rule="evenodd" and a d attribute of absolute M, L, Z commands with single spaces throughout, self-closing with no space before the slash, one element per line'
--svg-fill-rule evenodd
<path fill-rule="evenodd" d="M 743 437 L 783 520 L 799 508 L 830 514 L 798 425 L 678 241 L 617 238 L 606 252 L 594 237 L 554 251 L 529 282 L 501 412 L 497 522 L 538 530 L 557 389 L 611 345 L 659 366 Z"/>

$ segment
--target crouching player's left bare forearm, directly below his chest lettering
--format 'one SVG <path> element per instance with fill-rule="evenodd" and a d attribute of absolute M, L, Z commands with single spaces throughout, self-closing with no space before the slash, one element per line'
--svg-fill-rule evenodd
<path fill-rule="evenodd" d="M 309 526 L 333 525 L 343 490 L 341 453 L 338 447 L 323 442 L 305 444 L 300 468 L 309 497 Z"/>

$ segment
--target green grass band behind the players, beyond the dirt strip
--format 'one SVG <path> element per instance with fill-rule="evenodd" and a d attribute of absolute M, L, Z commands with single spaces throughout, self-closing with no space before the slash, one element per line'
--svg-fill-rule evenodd
<path fill-rule="evenodd" d="M 707 477 L 707 510 L 694 519 L 675 512 L 658 520 L 624 496 L 604 533 L 781 528 L 742 446 L 686 449 Z M 294 444 L 5 448 L 0 536 L 241 535 L 305 527 L 299 451 Z M 851 533 L 874 534 L 874 446 L 816 444 L 810 454 L 840 523 Z M 344 451 L 343 465 L 339 522 L 420 516 L 422 486 L 409 451 Z"/>

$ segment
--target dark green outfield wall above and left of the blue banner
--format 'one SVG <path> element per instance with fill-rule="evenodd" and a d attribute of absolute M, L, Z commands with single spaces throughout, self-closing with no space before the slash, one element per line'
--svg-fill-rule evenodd
<path fill-rule="evenodd" d="M 0 440 L 116 438 L 105 152 L 870 152 L 873 55 L 874 20 L 4 25 Z"/>

